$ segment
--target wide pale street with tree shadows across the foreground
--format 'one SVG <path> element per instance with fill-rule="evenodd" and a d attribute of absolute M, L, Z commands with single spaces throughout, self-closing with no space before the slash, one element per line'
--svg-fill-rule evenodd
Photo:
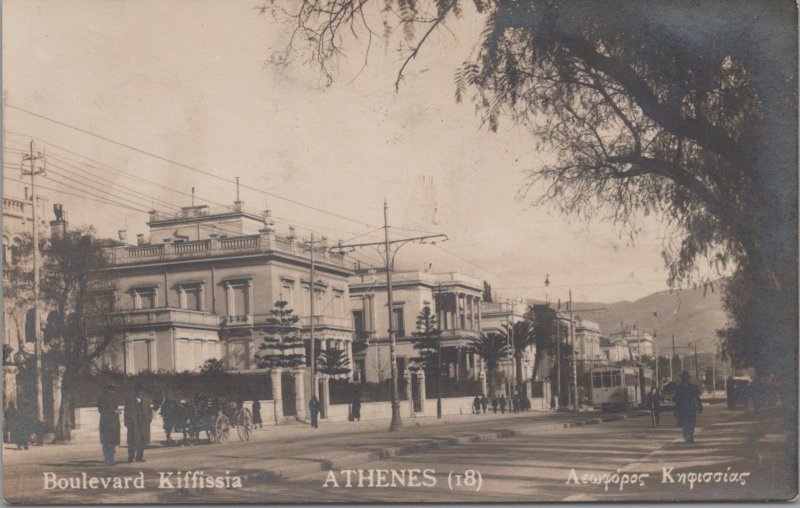
<path fill-rule="evenodd" d="M 756 415 L 709 406 L 700 416 L 694 445 L 682 443 L 671 414 L 663 415 L 658 429 L 643 413 L 626 416 L 463 415 L 446 424 L 406 420 L 395 433 L 387 432 L 383 421 L 316 430 L 293 425 L 258 430 L 249 443 L 233 437 L 223 445 L 154 448 L 145 454 L 145 463 L 113 468 L 101 465 L 99 446 L 93 444 L 48 445 L 30 452 L 6 445 L 5 500 L 552 502 L 645 500 L 655 493 L 664 501 L 784 495 L 779 475 L 784 442 L 776 410 Z M 118 460 L 125 459 L 125 451 L 120 448 Z M 195 471 L 194 476 L 228 484 L 239 477 L 241 487 L 203 488 L 202 480 L 192 480 Z M 87 478 L 141 476 L 143 485 L 44 488 L 45 473 L 52 480 L 84 472 Z M 719 481 L 714 481 L 717 472 Z M 709 482 L 703 483 L 703 473 L 712 473 L 705 475 Z M 51 481 L 49 486 L 55 485 Z"/>

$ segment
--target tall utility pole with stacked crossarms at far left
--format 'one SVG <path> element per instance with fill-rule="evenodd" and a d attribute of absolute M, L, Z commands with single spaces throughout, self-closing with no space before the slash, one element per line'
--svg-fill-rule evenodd
<path fill-rule="evenodd" d="M 42 161 L 41 166 L 36 167 L 36 162 Z M 36 344 L 36 420 L 44 421 L 44 393 L 42 391 L 42 354 L 44 344 L 42 343 L 42 330 L 39 319 L 39 218 L 36 216 L 38 206 L 36 197 L 36 175 L 46 174 L 45 163 L 46 155 L 44 152 L 35 152 L 34 143 L 31 139 L 31 151 L 22 154 L 22 176 L 31 177 L 31 213 L 33 214 L 33 335 Z M 25 169 L 25 162 L 31 163 L 30 171 Z M 58 418 L 58 415 L 55 415 Z"/>

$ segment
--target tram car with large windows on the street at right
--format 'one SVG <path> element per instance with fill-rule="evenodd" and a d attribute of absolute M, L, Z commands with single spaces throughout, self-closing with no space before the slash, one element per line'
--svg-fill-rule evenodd
<path fill-rule="evenodd" d="M 653 383 L 653 371 L 646 367 L 595 367 L 590 372 L 589 397 L 601 411 L 642 408 Z"/>

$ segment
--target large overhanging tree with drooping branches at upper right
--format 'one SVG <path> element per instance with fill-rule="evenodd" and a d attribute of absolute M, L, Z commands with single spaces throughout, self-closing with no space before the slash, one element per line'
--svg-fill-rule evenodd
<path fill-rule="evenodd" d="M 661 215 L 670 226 L 663 251 L 670 285 L 708 285 L 695 275 L 703 260 L 748 281 L 752 305 L 742 314 L 727 307 L 725 354 L 796 379 L 795 7 L 747 0 L 471 3 L 486 26 L 479 51 L 456 72 L 456 99 L 473 91 L 491 129 L 508 118 L 555 154 L 555 163 L 530 175 L 527 191 L 544 185 L 534 203 L 611 219 L 632 237 L 637 216 Z M 307 51 L 330 81 L 345 39 L 372 37 L 369 4 L 303 2 L 292 10 L 285 55 Z M 386 38 L 402 27 L 408 44 L 399 87 L 430 35 L 461 16 L 465 2 L 379 4 Z M 745 354 L 750 350 L 758 354 Z M 782 387 L 793 401 L 788 427 L 796 430 L 797 386 Z"/>

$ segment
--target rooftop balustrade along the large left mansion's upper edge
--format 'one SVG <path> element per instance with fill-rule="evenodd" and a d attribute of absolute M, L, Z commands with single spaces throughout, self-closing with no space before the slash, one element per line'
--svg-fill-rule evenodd
<path fill-rule="evenodd" d="M 111 247 L 107 252 L 110 263 L 116 266 L 270 252 L 303 258 L 309 255 L 302 245 L 272 234 L 209 238 L 180 243 L 122 245 Z M 344 256 L 341 254 L 331 254 L 326 250 L 317 255 L 318 263 L 345 268 Z"/>

